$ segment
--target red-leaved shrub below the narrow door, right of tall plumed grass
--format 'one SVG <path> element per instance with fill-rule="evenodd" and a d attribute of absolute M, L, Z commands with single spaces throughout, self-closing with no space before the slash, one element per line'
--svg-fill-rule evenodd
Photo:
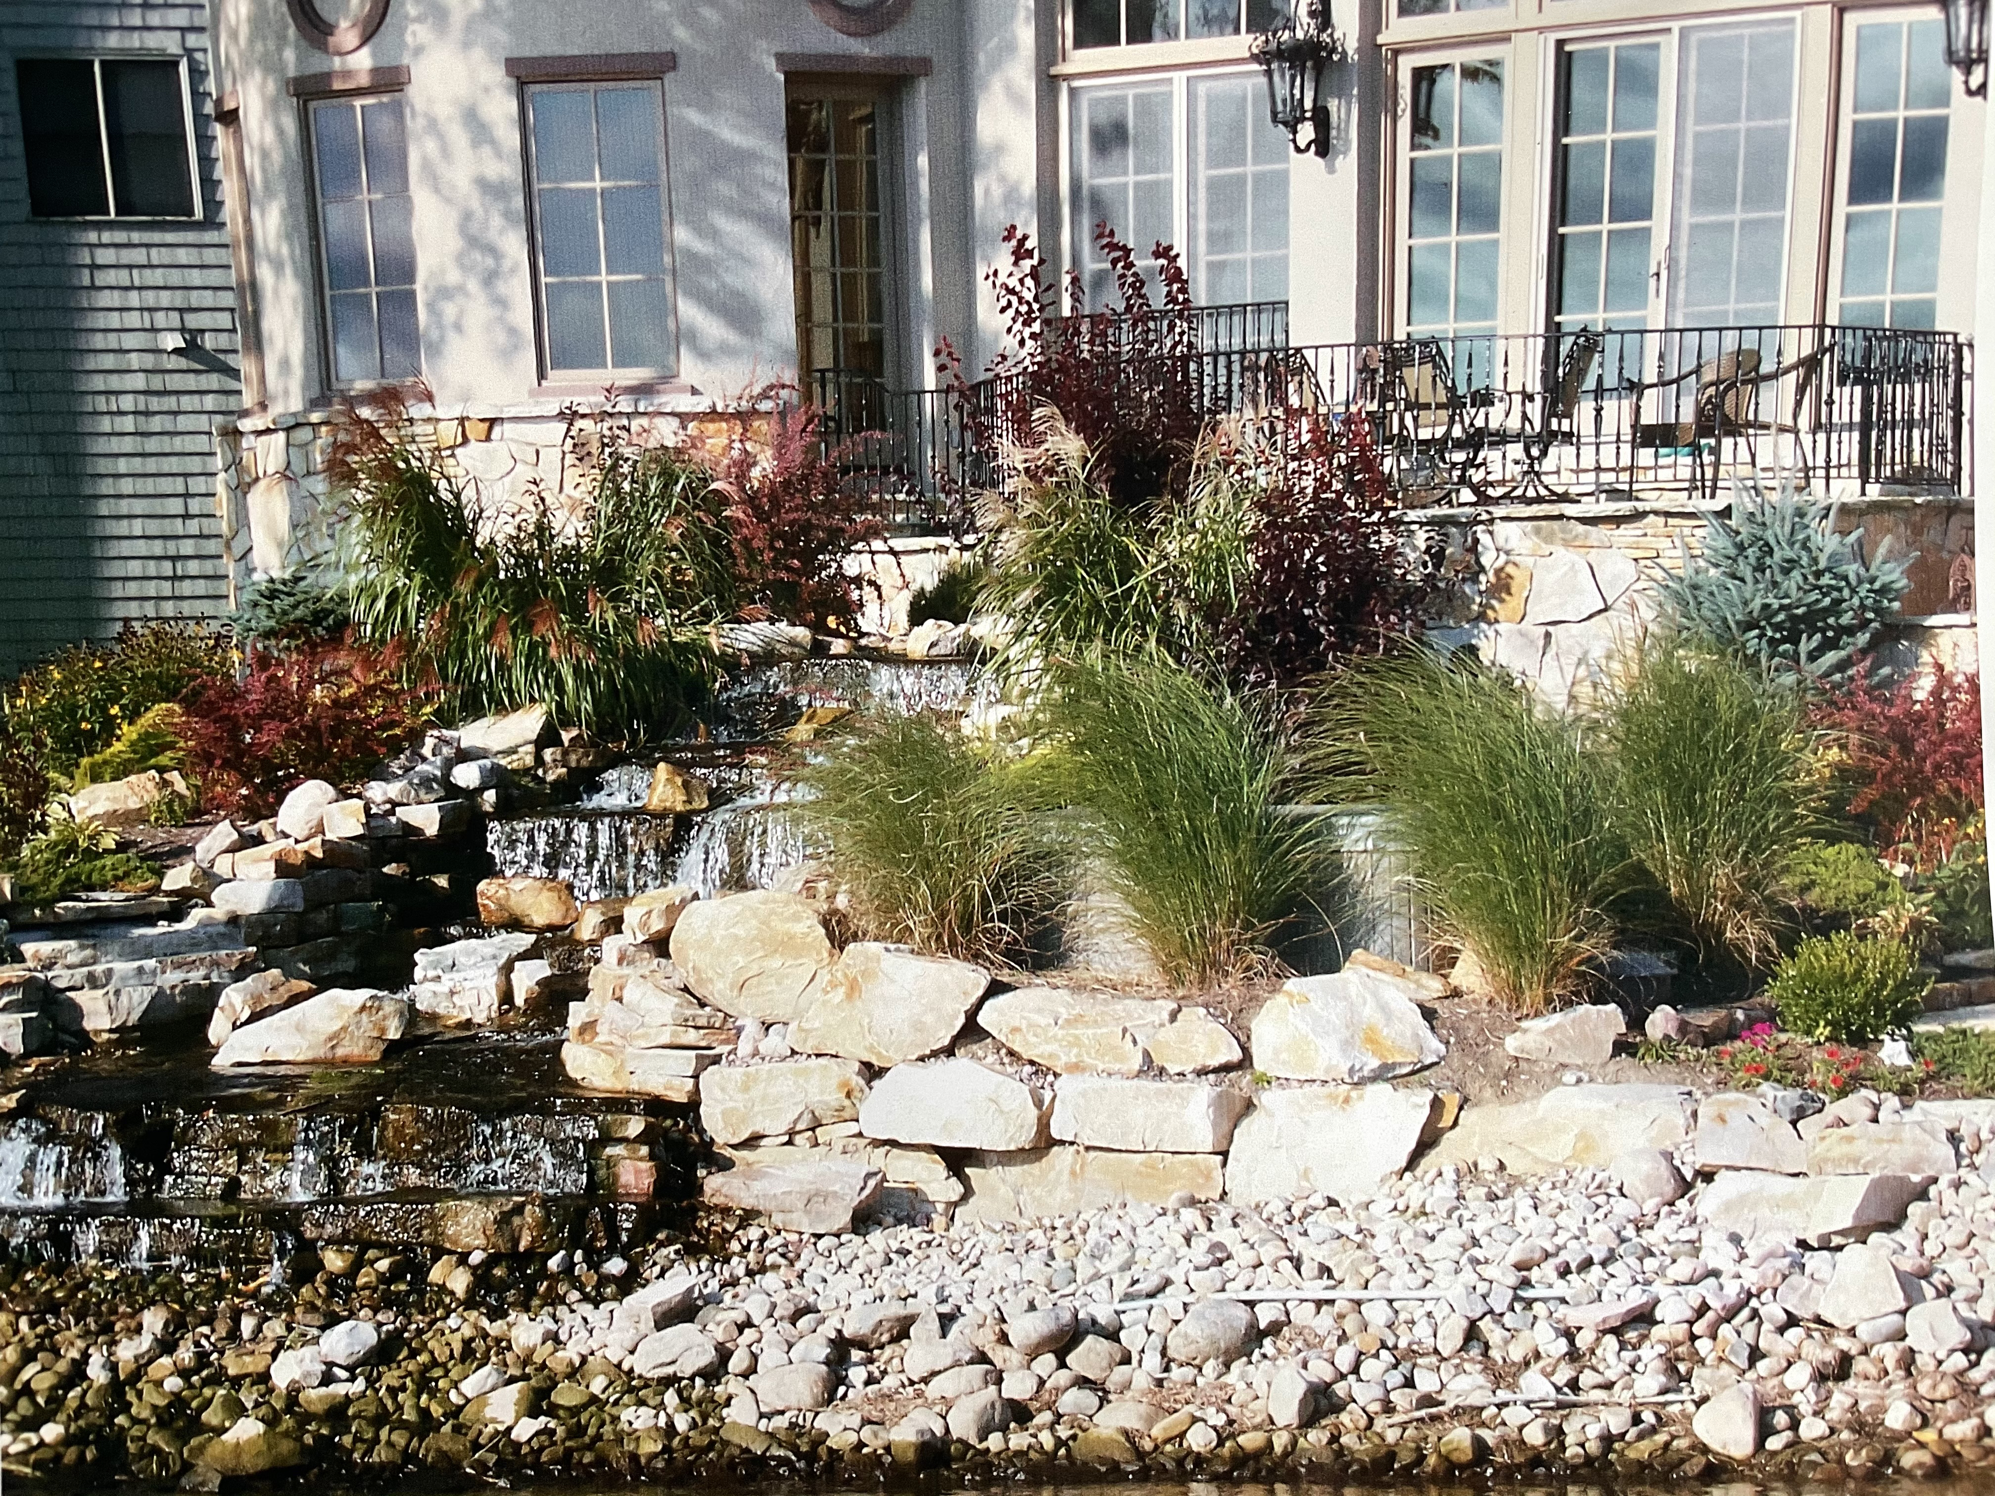
<path fill-rule="evenodd" d="M 714 491 L 724 505 L 744 616 L 800 624 L 852 618 L 846 555 L 884 535 L 884 527 L 866 495 L 840 485 L 838 453 L 824 451 L 816 407 L 780 403 L 766 451 L 746 435 L 730 439 Z"/>

